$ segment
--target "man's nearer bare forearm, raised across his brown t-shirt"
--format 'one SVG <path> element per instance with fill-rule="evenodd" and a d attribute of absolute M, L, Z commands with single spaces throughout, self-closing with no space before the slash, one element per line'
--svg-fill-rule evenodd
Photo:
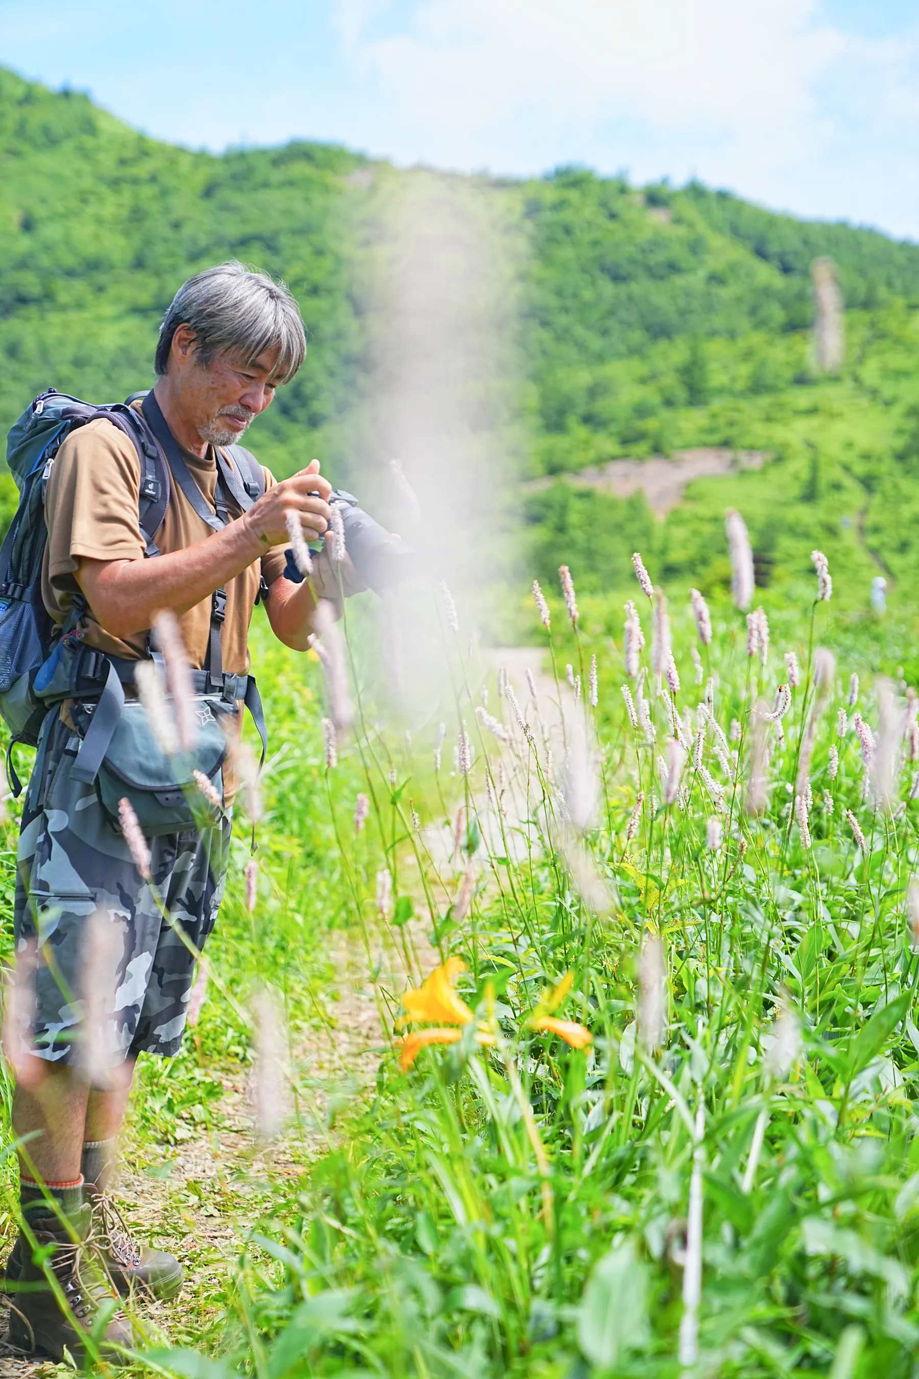
<path fill-rule="evenodd" d="M 106 632 L 130 637 L 146 632 L 164 608 L 180 616 L 209 598 L 267 549 L 237 519 L 197 546 L 153 560 L 83 558 L 76 579 Z"/>

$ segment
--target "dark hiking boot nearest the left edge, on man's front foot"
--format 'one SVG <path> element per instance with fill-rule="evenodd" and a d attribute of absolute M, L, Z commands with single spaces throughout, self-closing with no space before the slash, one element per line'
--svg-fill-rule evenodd
<path fill-rule="evenodd" d="M 77 1362 L 85 1358 L 85 1338 L 94 1332 L 94 1340 L 109 1364 L 130 1364 L 116 1347 L 134 1345 L 131 1322 L 117 1306 L 117 1295 L 106 1277 L 91 1240 L 92 1209 L 84 1205 L 72 1219 L 77 1240 L 55 1216 L 32 1218 L 29 1225 L 39 1249 L 54 1247 L 48 1267 L 54 1273 L 66 1300 L 62 1309 L 43 1269 L 32 1258 L 32 1247 L 21 1236 L 19 1277 L 8 1282 L 7 1291 L 15 1295 L 10 1303 L 10 1345 L 29 1354 L 41 1353 L 52 1360 L 63 1360 L 65 1349 Z M 99 1316 L 107 1311 L 103 1324 Z M 91 1354 L 91 1351 L 90 1351 Z"/>

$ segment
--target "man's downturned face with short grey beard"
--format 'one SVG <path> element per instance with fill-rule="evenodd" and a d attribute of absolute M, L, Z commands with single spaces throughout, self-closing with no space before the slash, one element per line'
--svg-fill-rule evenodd
<path fill-rule="evenodd" d="M 278 350 L 266 350 L 248 364 L 227 353 L 214 354 L 208 364 L 200 364 L 189 328 L 180 325 L 175 334 L 179 336 L 183 331 L 186 336 L 174 342 L 182 412 L 203 441 L 231 445 L 274 397 Z"/>

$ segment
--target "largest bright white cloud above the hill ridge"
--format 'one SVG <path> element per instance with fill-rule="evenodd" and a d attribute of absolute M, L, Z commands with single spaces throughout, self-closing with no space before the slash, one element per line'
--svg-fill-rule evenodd
<path fill-rule="evenodd" d="M 845 37 L 814 0 L 419 0 L 384 33 L 382 10 L 339 0 L 347 51 L 422 157 L 519 170 L 624 120 L 777 163 L 831 134 L 813 92 Z"/>

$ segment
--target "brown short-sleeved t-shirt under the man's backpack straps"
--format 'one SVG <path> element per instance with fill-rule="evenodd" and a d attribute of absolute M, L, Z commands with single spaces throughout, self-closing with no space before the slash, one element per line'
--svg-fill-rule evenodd
<path fill-rule="evenodd" d="M 216 459 L 208 447 L 205 459 L 182 451 L 189 472 L 214 507 Z M 263 470 L 267 487 L 274 484 Z M 48 543 L 41 567 L 41 597 L 56 622 L 63 622 L 73 597 L 80 592 L 74 578 L 80 558 L 143 560 L 145 541 L 138 523 L 141 459 L 117 426 L 99 418 L 81 426 L 58 451 L 45 494 Z M 233 517 L 240 509 L 227 495 Z M 185 550 L 215 532 L 192 507 L 178 484 L 169 485 L 169 505 L 158 532 L 163 554 Z M 284 547 L 274 546 L 226 585 L 226 618 L 222 626 L 223 669 L 244 674 L 249 669 L 248 632 L 259 592 L 259 576 L 270 585 L 284 571 Z M 211 633 L 211 598 L 203 600 L 179 618 L 192 665 L 201 670 Z M 110 655 L 136 659 L 145 654 L 145 633 L 120 640 L 105 632 L 90 611 L 81 618 L 85 644 Z"/>

